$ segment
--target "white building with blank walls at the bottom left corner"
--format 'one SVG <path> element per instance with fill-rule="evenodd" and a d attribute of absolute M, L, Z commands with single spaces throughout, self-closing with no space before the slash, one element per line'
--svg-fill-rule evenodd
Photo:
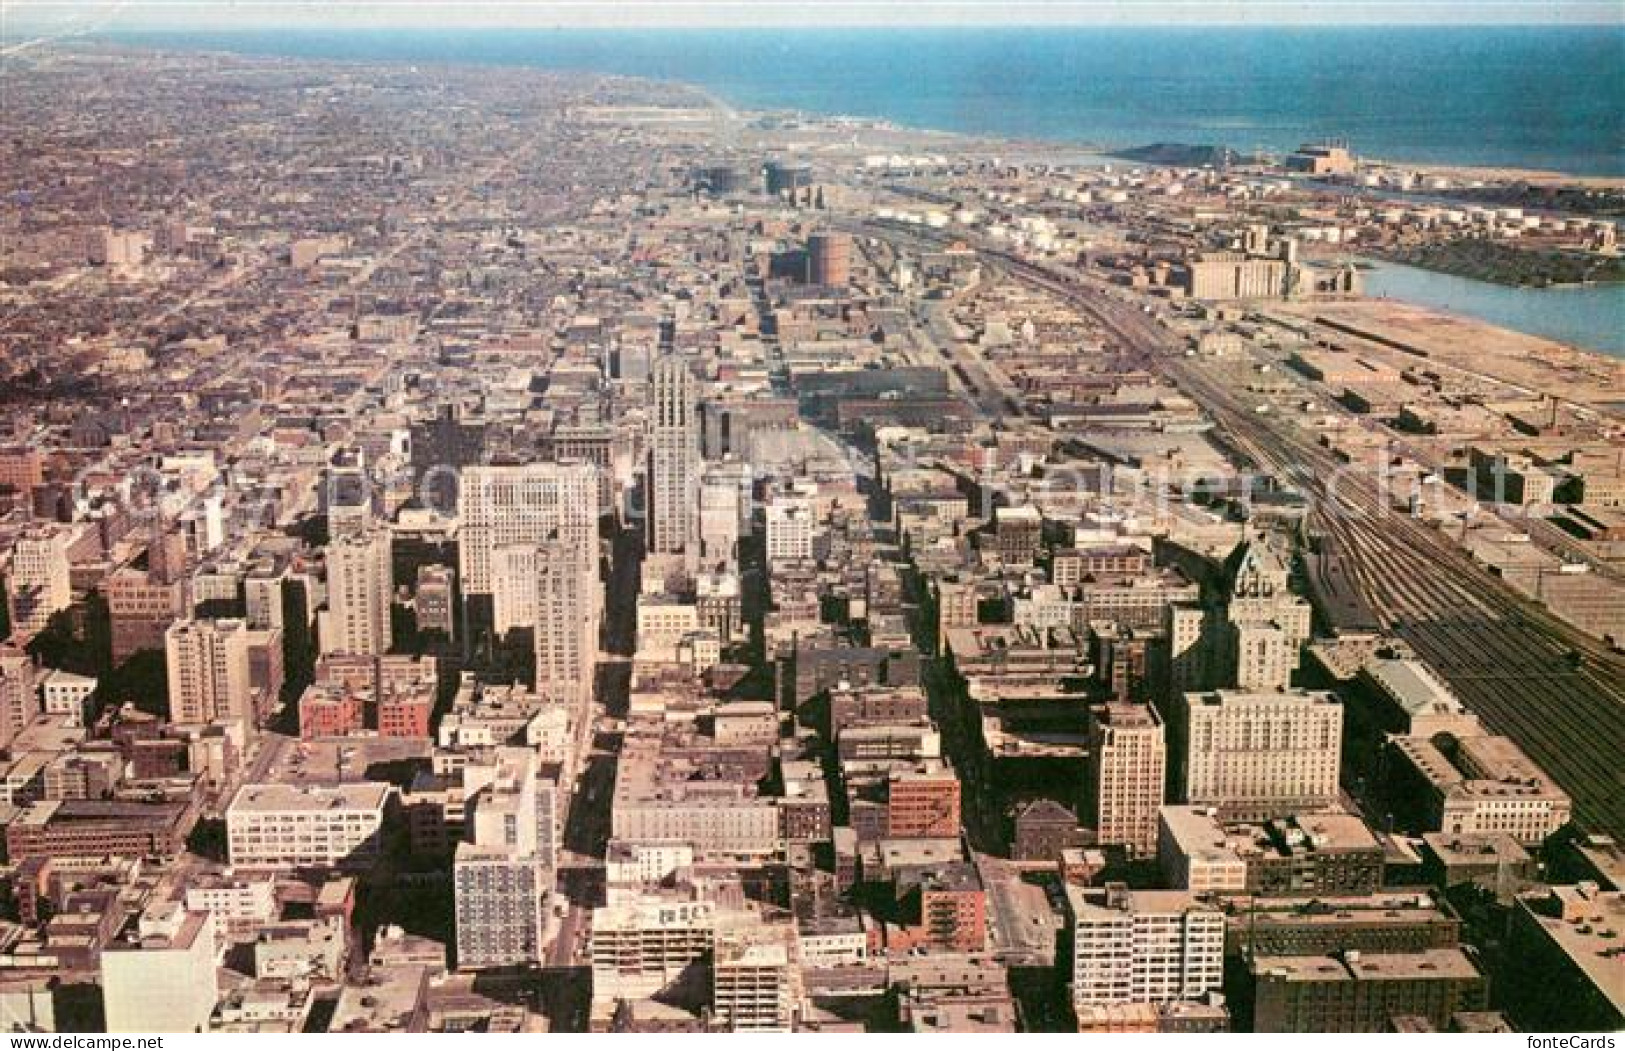
<path fill-rule="evenodd" d="M 219 999 L 214 915 L 179 902 L 148 906 L 102 949 L 101 991 L 109 1033 L 208 1030 Z"/>

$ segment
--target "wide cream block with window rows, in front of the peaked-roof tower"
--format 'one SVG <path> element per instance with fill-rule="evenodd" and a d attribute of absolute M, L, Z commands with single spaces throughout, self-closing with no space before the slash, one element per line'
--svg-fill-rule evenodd
<path fill-rule="evenodd" d="M 1342 703 L 1306 690 L 1183 694 L 1181 799 L 1227 820 L 1271 820 L 1337 802 Z"/>

